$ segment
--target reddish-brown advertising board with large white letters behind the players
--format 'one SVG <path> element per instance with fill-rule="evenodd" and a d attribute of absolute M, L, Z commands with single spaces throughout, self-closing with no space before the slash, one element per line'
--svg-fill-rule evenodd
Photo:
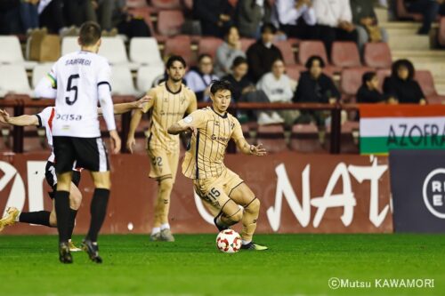
<path fill-rule="evenodd" d="M 44 181 L 47 154 L 0 157 L 0 211 L 51 210 Z M 258 233 L 391 233 L 389 168 L 386 157 L 279 153 L 265 157 L 228 155 L 225 164 L 261 200 Z M 102 233 L 150 233 L 157 183 L 144 155 L 111 156 L 112 182 Z M 82 172 L 84 200 L 75 233 L 89 225 L 93 182 Z M 172 193 L 174 233 L 215 232 L 191 180 L 178 173 Z M 17 223 L 2 234 L 50 234 L 54 228 Z"/>

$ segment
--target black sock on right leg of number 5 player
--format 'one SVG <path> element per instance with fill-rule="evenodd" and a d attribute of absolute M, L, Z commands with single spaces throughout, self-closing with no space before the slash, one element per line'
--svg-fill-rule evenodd
<path fill-rule="evenodd" d="M 90 213 L 91 224 L 86 238 L 92 242 L 97 242 L 97 236 L 101 230 L 103 220 L 107 213 L 109 203 L 109 189 L 96 188 L 94 190 L 93 200 L 91 201 Z"/>

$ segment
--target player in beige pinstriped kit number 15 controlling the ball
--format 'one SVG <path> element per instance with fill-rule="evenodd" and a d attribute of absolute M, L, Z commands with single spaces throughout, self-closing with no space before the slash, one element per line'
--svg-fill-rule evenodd
<path fill-rule="evenodd" d="M 227 112 L 231 104 L 229 82 L 212 82 L 210 99 L 212 107 L 199 109 L 168 129 L 171 134 L 192 132 L 190 148 L 182 162 L 182 173 L 193 180 L 198 196 L 214 214 L 214 224 L 218 230 L 230 228 L 241 221 L 241 249 L 267 250 L 266 246 L 252 241 L 260 201 L 239 175 L 223 164 L 231 139 L 247 155 L 265 156 L 266 150 L 261 144 L 248 144 L 238 119 Z"/>

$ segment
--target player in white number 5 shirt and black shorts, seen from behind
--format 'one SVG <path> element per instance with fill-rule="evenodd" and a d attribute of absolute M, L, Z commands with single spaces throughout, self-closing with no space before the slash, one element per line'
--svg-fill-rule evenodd
<path fill-rule="evenodd" d="M 98 120 L 98 103 L 107 123 L 111 150 L 120 150 L 120 138 L 111 100 L 108 61 L 97 54 L 101 46 L 101 27 L 85 22 L 78 38 L 81 50 L 62 56 L 54 65 L 48 77 L 37 85 L 37 89 L 56 89 L 53 119 L 53 148 L 57 190 L 54 195 L 57 228 L 59 231 L 59 260 L 72 263 L 69 252 L 69 190 L 72 168 L 77 166 L 91 172 L 94 193 L 91 202 L 91 222 L 82 247 L 91 260 L 101 263 L 97 239 L 105 220 L 109 201 L 109 159 L 107 149 L 101 140 Z M 42 96 L 44 97 L 44 96 Z"/>

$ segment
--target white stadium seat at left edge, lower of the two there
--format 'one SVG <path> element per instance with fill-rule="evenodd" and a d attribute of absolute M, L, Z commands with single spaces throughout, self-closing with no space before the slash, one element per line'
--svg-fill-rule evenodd
<path fill-rule="evenodd" d="M 32 94 L 28 76 L 22 65 L 0 65 L 0 98 L 8 92 Z"/>

